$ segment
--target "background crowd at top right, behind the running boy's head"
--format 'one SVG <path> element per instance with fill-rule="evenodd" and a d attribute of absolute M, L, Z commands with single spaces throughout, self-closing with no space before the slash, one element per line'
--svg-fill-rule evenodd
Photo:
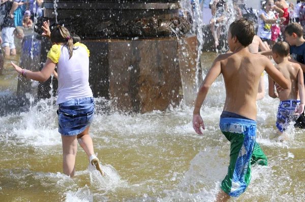
<path fill-rule="evenodd" d="M 245 4 L 238 2 L 238 0 L 233 0 L 232 9 L 228 9 L 228 2 L 225 0 L 211 0 L 209 8 L 212 14 L 210 29 L 215 48 L 219 46 L 222 27 L 227 24 L 228 18 L 232 16 L 234 19 L 249 17 L 249 10 L 245 11 Z M 303 1 L 297 1 L 296 5 L 287 3 L 285 0 L 261 1 L 260 10 L 252 14 L 257 18 L 255 20 L 257 22 L 256 35 L 268 44 L 269 48 L 272 48 L 272 45 L 277 41 L 285 40 L 283 33 L 289 23 L 297 22 L 302 26 L 305 25 L 305 4 Z"/>

